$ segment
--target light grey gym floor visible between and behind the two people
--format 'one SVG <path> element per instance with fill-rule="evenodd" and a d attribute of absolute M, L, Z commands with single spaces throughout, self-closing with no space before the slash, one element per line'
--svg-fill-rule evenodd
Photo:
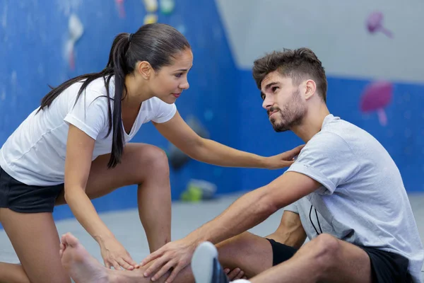
<path fill-rule="evenodd" d="M 173 202 L 172 240 L 183 238 L 197 227 L 213 219 L 213 217 L 223 212 L 239 196 L 225 195 L 218 200 L 200 203 Z M 420 231 L 421 241 L 424 242 L 424 194 L 410 194 L 409 198 Z M 283 209 L 250 231 L 259 236 L 266 236 L 273 233 L 280 223 L 282 214 Z M 100 217 L 136 262 L 140 262 L 148 255 L 146 235 L 143 231 L 143 226 L 141 226 L 137 209 L 101 213 Z M 102 262 L 98 244 L 75 219 L 57 221 L 57 229 L 59 235 L 67 232 L 73 233 L 87 248 L 88 252 Z M 19 262 L 11 242 L 3 230 L 0 230 L 0 261 Z"/>

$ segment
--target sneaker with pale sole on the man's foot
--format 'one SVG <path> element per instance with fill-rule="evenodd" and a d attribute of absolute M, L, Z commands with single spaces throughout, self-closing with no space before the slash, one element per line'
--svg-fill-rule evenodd
<path fill-rule="evenodd" d="M 211 242 L 201 243 L 194 251 L 192 271 L 196 283 L 229 283 L 218 262 L 218 250 Z"/>

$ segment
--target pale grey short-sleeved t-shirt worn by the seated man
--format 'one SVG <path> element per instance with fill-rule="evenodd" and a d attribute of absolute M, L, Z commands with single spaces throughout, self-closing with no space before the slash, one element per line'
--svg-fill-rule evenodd
<path fill-rule="evenodd" d="M 328 115 L 290 171 L 322 184 L 295 202 L 309 238 L 322 229 L 349 243 L 398 253 L 408 258 L 414 282 L 422 282 L 424 249 L 411 204 L 399 169 L 377 139 Z"/>

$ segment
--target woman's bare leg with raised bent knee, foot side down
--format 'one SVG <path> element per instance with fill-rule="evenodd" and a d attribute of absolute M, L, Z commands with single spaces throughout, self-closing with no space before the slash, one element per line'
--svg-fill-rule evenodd
<path fill-rule="evenodd" d="M 171 238 L 170 169 L 162 149 L 150 144 L 127 144 L 122 162 L 108 169 L 110 155 L 93 161 L 86 193 L 90 199 L 102 197 L 119 187 L 138 185 L 137 198 L 141 223 L 153 252 Z M 60 195 L 57 204 L 65 204 Z"/>

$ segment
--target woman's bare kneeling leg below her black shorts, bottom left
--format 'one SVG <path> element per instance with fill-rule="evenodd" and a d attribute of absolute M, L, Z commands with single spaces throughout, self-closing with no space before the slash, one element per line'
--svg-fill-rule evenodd
<path fill-rule="evenodd" d="M 59 236 L 51 213 L 24 214 L 0 208 L 0 221 L 21 263 L 1 262 L 0 282 L 71 282 L 60 262 Z"/>

